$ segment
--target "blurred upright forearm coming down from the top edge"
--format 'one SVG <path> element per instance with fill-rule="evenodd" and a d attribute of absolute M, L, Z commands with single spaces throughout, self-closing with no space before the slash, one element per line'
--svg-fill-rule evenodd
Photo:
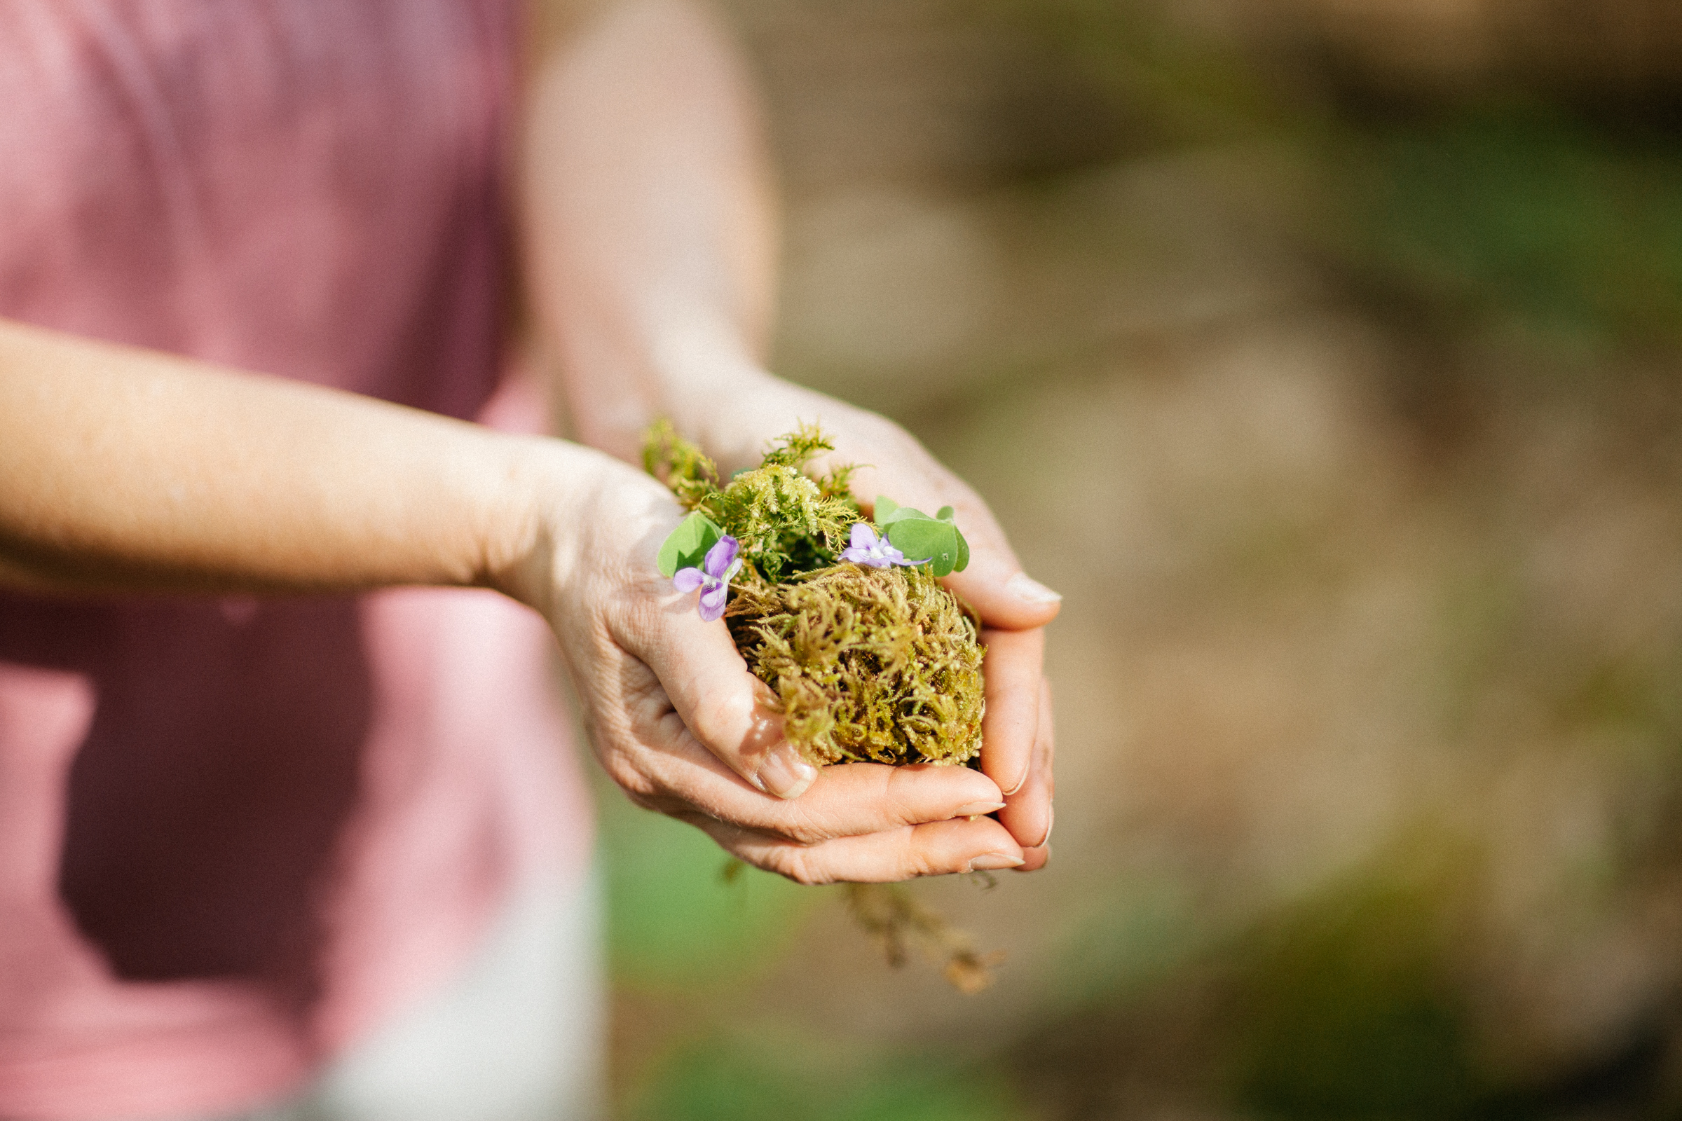
<path fill-rule="evenodd" d="M 762 382 L 775 234 L 755 103 L 681 0 L 614 7 L 543 44 L 520 210 L 528 291 L 580 437 L 632 457 L 659 415 L 715 452 L 722 395 Z"/>

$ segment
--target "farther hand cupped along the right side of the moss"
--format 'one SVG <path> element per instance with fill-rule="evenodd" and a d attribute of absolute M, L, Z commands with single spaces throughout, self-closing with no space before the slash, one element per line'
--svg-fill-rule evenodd
<path fill-rule="evenodd" d="M 836 450 L 829 464 L 856 464 L 853 492 L 866 504 L 878 494 L 934 513 L 957 511 L 971 545 L 969 566 L 945 576 L 982 620 L 987 647 L 987 714 L 982 723 L 982 773 L 1004 792 L 999 822 L 1023 847 L 1019 871 L 1043 867 L 1051 839 L 1051 687 L 1041 674 L 1045 625 L 1061 598 L 1031 580 L 1011 551 L 987 504 L 942 467 L 905 429 L 871 412 L 764 373 L 737 373 L 728 392 L 717 383 L 678 405 L 678 429 L 728 474 L 759 466 L 767 440 L 799 422 L 817 422 Z M 722 403 L 722 405 L 720 405 Z"/>

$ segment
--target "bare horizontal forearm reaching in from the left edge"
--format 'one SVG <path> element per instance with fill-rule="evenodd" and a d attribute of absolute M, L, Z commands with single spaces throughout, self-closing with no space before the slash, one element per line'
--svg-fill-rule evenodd
<path fill-rule="evenodd" d="M 0 323 L 0 583 L 498 585 L 530 551 L 533 462 L 558 454 L 535 445 Z"/>

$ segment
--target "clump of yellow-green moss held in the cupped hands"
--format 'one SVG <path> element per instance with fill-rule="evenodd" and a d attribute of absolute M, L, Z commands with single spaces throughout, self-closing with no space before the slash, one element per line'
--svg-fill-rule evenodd
<path fill-rule="evenodd" d="M 965 763 L 981 753 L 977 622 L 927 568 L 836 563 L 863 514 L 849 467 L 807 474 L 826 450 L 802 425 L 720 486 L 717 466 L 661 422 L 643 462 L 740 543 L 725 618 L 789 743 L 819 765 Z"/>

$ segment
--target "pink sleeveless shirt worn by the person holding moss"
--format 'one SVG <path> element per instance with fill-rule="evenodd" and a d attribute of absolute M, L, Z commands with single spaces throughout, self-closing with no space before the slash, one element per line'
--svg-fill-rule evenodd
<path fill-rule="evenodd" d="M 0 316 L 535 427 L 495 392 L 511 20 L 0 5 Z M 486 592 L 0 593 L 0 1116 L 281 1096 L 580 867 L 547 645 Z"/>

